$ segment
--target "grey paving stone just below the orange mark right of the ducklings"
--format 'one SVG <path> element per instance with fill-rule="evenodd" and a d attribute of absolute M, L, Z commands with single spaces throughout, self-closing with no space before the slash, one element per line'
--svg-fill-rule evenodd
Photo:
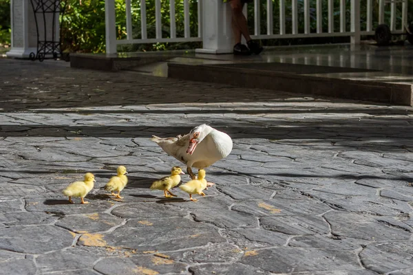
<path fill-rule="evenodd" d="M 313 215 L 262 217 L 260 225 L 265 230 L 289 235 L 328 234 L 330 232 L 328 223 L 323 218 Z"/>

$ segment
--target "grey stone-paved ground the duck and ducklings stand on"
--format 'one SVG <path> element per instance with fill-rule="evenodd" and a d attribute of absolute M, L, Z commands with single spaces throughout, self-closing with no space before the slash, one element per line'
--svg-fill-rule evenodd
<path fill-rule="evenodd" d="M 413 274 L 410 107 L 54 61 L 1 59 L 0 80 L 0 274 Z M 179 164 L 149 137 L 204 122 L 234 141 L 217 185 L 149 190 Z M 68 204 L 86 171 L 91 203 Z"/>

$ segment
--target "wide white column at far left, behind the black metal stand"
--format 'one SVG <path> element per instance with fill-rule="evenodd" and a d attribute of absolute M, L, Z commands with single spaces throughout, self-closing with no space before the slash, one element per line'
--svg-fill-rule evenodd
<path fill-rule="evenodd" d="M 30 0 L 11 0 L 10 15 L 12 48 L 6 55 L 12 58 L 28 58 L 30 52 L 36 54 L 36 23 L 34 21 L 32 3 L 30 3 Z M 43 18 L 41 27 L 42 28 L 39 28 L 39 31 L 41 36 L 43 36 Z M 59 24 L 56 25 L 56 28 L 59 28 Z"/>

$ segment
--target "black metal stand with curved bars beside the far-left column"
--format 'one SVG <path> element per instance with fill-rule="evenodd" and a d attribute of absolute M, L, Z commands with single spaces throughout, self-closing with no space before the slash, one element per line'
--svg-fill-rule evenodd
<path fill-rule="evenodd" d="M 63 16 L 65 14 L 66 8 L 66 0 L 30 0 L 33 7 L 34 12 L 34 21 L 36 22 L 36 32 L 37 32 L 37 52 L 30 53 L 29 58 L 32 61 L 39 59 L 39 61 L 43 61 L 46 58 L 47 54 L 51 54 L 54 59 L 63 56 L 63 52 L 61 50 L 61 28 L 59 30 L 59 40 L 55 40 L 54 37 L 55 30 L 56 30 L 56 14 Z M 64 3 L 64 4 L 63 4 Z M 44 39 L 40 40 L 39 35 L 39 24 L 37 23 L 37 14 L 43 14 L 43 28 L 44 28 Z M 53 14 L 52 19 L 52 40 L 47 40 L 47 25 L 46 25 L 46 14 Z M 60 22 L 62 23 L 62 22 Z"/>

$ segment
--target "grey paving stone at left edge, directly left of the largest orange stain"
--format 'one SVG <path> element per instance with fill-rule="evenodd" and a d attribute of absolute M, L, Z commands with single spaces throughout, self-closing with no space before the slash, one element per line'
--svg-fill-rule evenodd
<path fill-rule="evenodd" d="M 74 234 L 52 225 L 0 228 L 0 249 L 41 254 L 72 245 Z M 53 240 L 53 241 L 50 241 Z"/>

